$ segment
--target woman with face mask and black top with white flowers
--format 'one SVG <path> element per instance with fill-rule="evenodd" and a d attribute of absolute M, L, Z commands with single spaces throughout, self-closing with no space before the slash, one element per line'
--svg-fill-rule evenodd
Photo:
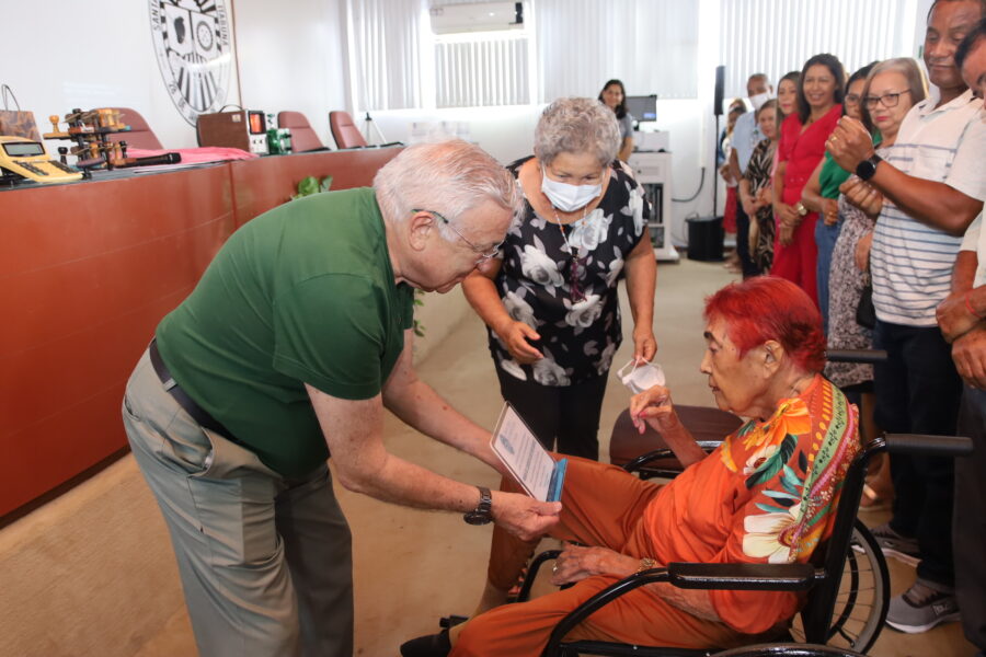
<path fill-rule="evenodd" d="M 593 99 L 544 110 L 535 155 L 508 166 L 524 198 L 500 265 L 474 272 L 466 297 L 489 327 L 503 396 L 548 449 L 598 459 L 606 377 L 622 341 L 626 275 L 634 356 L 649 361 L 656 265 L 650 207 L 615 160 L 616 117 Z"/>

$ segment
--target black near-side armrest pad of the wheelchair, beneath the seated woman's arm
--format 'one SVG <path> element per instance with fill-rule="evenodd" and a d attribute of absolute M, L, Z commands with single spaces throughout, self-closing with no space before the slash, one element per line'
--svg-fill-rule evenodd
<path fill-rule="evenodd" d="M 684 589 L 737 591 L 803 591 L 815 584 L 811 564 L 667 565 L 668 581 Z"/>

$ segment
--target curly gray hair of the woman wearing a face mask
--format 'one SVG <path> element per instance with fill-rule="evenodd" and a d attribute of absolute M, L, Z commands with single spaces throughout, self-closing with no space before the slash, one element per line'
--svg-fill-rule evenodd
<path fill-rule="evenodd" d="M 559 153 L 589 153 L 599 166 L 620 150 L 620 124 L 596 99 L 559 99 L 541 113 L 535 129 L 535 155 L 544 165 Z"/>

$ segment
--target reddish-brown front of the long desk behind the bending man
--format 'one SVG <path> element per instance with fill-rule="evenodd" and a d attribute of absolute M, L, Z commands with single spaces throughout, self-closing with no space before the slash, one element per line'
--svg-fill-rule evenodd
<path fill-rule="evenodd" d="M 126 446 L 126 380 L 160 319 L 305 176 L 369 185 L 400 148 L 0 192 L 0 518 Z"/>

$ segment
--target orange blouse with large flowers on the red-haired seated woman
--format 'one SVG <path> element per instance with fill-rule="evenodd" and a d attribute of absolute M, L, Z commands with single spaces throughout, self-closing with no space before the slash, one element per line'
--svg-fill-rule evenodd
<path fill-rule="evenodd" d="M 643 516 L 651 554 L 664 564 L 806 562 L 832 533 L 858 451 L 856 406 L 818 374 L 664 486 Z M 791 592 L 710 596 L 719 616 L 745 634 L 787 623 L 800 603 Z"/>

